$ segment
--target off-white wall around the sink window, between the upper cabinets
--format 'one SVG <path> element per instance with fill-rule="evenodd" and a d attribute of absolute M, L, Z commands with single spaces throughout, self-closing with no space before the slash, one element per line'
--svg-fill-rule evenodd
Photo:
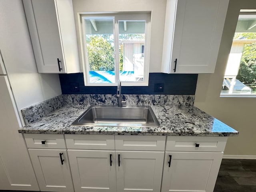
<path fill-rule="evenodd" d="M 78 12 L 151 11 L 149 72 L 161 72 L 166 0 L 72 0 L 72 2 L 80 64 L 82 58 Z"/>

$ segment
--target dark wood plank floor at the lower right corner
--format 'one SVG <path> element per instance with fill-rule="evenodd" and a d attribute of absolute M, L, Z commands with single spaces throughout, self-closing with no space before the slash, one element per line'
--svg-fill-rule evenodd
<path fill-rule="evenodd" d="M 223 159 L 214 192 L 256 192 L 256 160 Z"/>

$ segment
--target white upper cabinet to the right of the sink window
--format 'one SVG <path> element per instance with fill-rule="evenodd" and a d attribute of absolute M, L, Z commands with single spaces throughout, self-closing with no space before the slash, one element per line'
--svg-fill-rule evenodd
<path fill-rule="evenodd" d="M 167 0 L 162 72 L 214 73 L 229 0 Z"/>

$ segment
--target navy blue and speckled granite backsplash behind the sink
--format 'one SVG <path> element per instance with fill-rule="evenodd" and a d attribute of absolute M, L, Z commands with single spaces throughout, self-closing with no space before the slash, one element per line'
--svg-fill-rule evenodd
<path fill-rule="evenodd" d="M 117 105 L 116 86 L 84 86 L 83 73 L 59 74 L 62 95 L 22 109 L 25 124 L 68 104 Z M 150 73 L 148 86 L 122 86 L 127 105 L 192 106 L 198 74 Z M 162 92 L 157 87 L 163 87 Z"/>

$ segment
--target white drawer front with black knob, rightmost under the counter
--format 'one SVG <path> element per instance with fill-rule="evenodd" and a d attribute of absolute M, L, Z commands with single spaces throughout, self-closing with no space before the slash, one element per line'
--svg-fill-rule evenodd
<path fill-rule="evenodd" d="M 166 151 L 222 152 L 227 137 L 168 136 Z"/>

